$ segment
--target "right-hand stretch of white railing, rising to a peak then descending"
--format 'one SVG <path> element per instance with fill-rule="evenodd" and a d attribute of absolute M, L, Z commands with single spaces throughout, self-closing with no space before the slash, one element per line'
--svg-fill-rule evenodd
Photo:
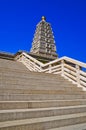
<path fill-rule="evenodd" d="M 86 64 L 68 57 L 56 59 L 43 66 L 42 72 L 61 74 L 78 86 L 86 87 Z"/>

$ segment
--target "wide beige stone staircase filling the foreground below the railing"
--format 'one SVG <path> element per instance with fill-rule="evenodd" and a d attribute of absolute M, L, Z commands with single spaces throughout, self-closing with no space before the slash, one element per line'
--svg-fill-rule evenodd
<path fill-rule="evenodd" d="M 0 130 L 86 130 L 86 92 L 60 75 L 0 59 Z"/>

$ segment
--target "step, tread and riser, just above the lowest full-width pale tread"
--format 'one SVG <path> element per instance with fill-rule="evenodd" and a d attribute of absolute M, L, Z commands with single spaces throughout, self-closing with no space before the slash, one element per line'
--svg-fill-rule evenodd
<path fill-rule="evenodd" d="M 40 117 L 51 117 L 59 115 L 67 115 L 74 113 L 85 113 L 86 105 L 69 106 L 69 107 L 51 107 L 51 108 L 37 108 L 37 109 L 13 109 L 0 110 L 0 122 L 8 120 L 21 120 Z"/>

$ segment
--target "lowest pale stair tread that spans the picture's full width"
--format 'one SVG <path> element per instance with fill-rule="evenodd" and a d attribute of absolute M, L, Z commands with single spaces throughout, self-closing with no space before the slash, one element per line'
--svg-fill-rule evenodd
<path fill-rule="evenodd" d="M 44 122 L 50 122 L 50 121 L 56 121 L 56 120 L 67 120 L 67 119 L 71 119 L 71 118 L 74 119 L 74 118 L 79 118 L 79 117 L 86 117 L 86 113 L 77 113 L 77 114 L 69 114 L 69 115 L 5 121 L 5 122 L 0 122 L 0 128 L 18 126 L 18 125 L 34 124 L 34 123 L 44 123 Z"/>

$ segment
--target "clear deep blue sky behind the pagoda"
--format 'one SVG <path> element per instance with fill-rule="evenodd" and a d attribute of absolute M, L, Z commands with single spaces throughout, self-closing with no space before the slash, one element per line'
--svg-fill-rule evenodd
<path fill-rule="evenodd" d="M 86 0 L 0 0 L 0 51 L 29 51 L 43 15 L 59 57 L 86 62 Z"/>

